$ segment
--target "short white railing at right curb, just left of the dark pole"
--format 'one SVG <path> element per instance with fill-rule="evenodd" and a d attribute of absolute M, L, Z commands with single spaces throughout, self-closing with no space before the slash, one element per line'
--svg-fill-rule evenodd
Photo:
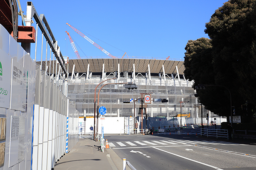
<path fill-rule="evenodd" d="M 201 136 L 214 136 L 216 138 L 227 138 L 228 130 L 226 129 L 207 129 L 201 128 Z"/>

